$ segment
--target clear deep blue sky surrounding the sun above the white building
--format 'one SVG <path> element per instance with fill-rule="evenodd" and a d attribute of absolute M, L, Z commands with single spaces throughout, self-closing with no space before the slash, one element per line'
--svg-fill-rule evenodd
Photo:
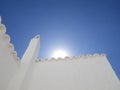
<path fill-rule="evenodd" d="M 0 0 L 0 16 L 20 58 L 40 34 L 39 58 L 106 53 L 120 79 L 119 0 Z"/>

